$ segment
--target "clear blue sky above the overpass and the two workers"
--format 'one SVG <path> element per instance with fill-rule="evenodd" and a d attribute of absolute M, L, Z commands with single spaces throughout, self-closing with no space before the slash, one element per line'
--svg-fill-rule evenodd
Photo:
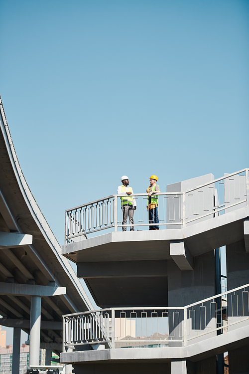
<path fill-rule="evenodd" d="M 249 167 L 249 1 L 0 0 L 0 94 L 60 244 L 64 210 Z"/>

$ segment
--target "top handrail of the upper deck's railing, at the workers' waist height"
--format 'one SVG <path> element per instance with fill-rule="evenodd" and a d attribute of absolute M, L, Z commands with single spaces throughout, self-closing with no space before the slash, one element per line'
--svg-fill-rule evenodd
<path fill-rule="evenodd" d="M 242 170 L 240 170 L 240 171 L 238 171 L 238 172 L 236 172 L 236 173 L 228 174 L 226 177 L 221 177 L 221 178 L 215 179 L 215 180 L 210 181 L 210 182 L 207 182 L 207 183 L 205 183 L 205 184 L 203 184 L 203 185 L 200 185 L 200 186 L 197 186 L 197 187 L 194 187 L 194 188 L 187 189 L 186 191 L 177 191 L 177 192 L 158 192 L 157 195 L 158 195 L 158 196 L 161 196 L 161 195 L 182 195 L 182 194 L 184 194 L 184 193 L 192 192 L 192 191 L 194 191 L 194 190 L 196 190 L 196 189 L 198 189 L 198 188 L 203 188 L 203 187 L 206 187 L 206 186 L 212 185 L 212 184 L 214 184 L 214 183 L 216 183 L 216 182 L 222 181 L 222 180 L 227 179 L 227 178 L 231 178 L 231 177 L 233 177 L 233 176 L 235 176 L 235 175 L 237 175 L 237 174 L 244 173 L 244 172 L 247 172 L 247 171 L 249 171 L 249 168 L 242 169 Z M 88 205 L 96 204 L 97 202 L 101 202 L 101 201 L 103 201 L 103 200 L 108 200 L 108 199 L 110 199 L 110 198 L 114 198 L 114 197 L 116 197 L 116 196 L 121 197 L 122 195 L 119 195 L 119 194 L 116 193 L 116 194 L 113 194 L 113 195 L 110 195 L 110 196 L 106 196 L 106 197 L 100 198 L 100 199 L 98 199 L 98 200 L 90 201 L 90 202 L 87 202 L 87 203 L 85 203 L 85 204 L 75 206 L 75 207 L 73 207 L 73 208 L 71 208 L 71 209 L 66 209 L 66 210 L 65 210 L 65 213 L 66 213 L 66 212 L 69 212 L 69 211 L 71 211 L 71 210 L 76 210 L 76 209 L 79 209 L 79 208 L 83 208 L 84 206 L 88 206 Z M 147 196 L 147 192 L 143 192 L 143 193 L 132 193 L 130 196 Z"/>

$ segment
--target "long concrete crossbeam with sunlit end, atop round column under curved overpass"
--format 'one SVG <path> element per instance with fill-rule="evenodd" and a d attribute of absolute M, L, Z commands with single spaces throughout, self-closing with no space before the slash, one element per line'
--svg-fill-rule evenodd
<path fill-rule="evenodd" d="M 65 295 L 66 287 L 39 286 L 0 282 L 0 295 L 57 296 Z"/>

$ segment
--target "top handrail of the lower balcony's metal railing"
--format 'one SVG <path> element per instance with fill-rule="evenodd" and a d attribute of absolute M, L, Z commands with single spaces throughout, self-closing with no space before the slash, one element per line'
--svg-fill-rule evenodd
<path fill-rule="evenodd" d="M 195 303 L 192 303 L 192 304 L 188 304 L 188 305 L 185 305 L 183 307 L 125 307 L 125 308 L 105 308 L 105 309 L 97 309 L 97 310 L 89 310 L 89 311 L 86 311 L 86 312 L 78 312 L 78 313 L 72 313 L 72 314 L 64 314 L 63 317 L 66 318 L 66 317 L 75 317 L 75 316 L 82 316 L 84 314 L 89 314 L 89 313 L 97 313 L 97 312 L 105 312 L 105 311 L 112 311 L 113 309 L 115 310 L 128 310 L 128 311 L 131 311 L 131 310 L 184 310 L 184 309 L 188 309 L 188 308 L 191 308 L 195 305 L 199 305 L 199 304 L 203 304 L 203 303 L 206 303 L 207 301 L 210 301 L 210 300 L 213 300 L 213 299 L 216 299 L 216 298 L 219 298 L 219 297 L 222 297 L 224 295 L 227 295 L 227 294 L 230 294 L 230 293 L 233 293 L 233 292 L 236 292 L 236 291 L 239 291 L 239 290 L 242 290 L 243 288 L 247 288 L 249 287 L 249 283 L 248 284 L 245 284 L 243 286 L 240 286 L 240 287 L 236 287 L 236 288 L 233 288 L 232 290 L 228 290 L 226 292 L 222 292 L 220 294 L 217 294 L 217 295 L 214 295 L 214 296 L 211 296 L 211 297 L 208 297 L 206 299 L 203 299 L 203 300 L 200 300 L 200 301 L 197 301 Z"/>

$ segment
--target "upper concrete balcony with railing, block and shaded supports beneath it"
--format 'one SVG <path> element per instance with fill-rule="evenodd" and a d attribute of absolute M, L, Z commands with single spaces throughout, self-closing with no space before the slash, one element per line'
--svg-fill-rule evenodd
<path fill-rule="evenodd" d="M 135 231 L 121 231 L 118 195 L 69 209 L 62 254 L 77 264 L 77 276 L 104 308 L 182 306 L 210 297 L 214 249 L 242 241 L 249 251 L 248 181 L 244 169 L 167 186 L 159 194 L 158 231 L 148 230 L 142 193 L 134 195 Z"/>

